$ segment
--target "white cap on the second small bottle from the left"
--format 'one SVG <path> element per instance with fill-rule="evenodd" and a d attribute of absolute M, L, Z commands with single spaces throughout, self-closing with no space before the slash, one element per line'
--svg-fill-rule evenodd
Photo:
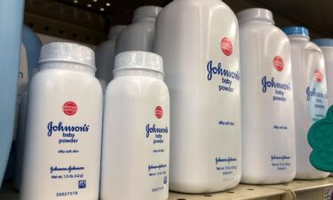
<path fill-rule="evenodd" d="M 121 52 L 115 56 L 115 71 L 123 69 L 148 69 L 163 74 L 163 59 L 154 52 Z"/>

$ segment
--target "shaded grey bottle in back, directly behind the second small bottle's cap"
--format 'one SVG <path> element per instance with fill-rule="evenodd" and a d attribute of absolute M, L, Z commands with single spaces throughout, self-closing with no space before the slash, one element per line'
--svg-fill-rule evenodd
<path fill-rule="evenodd" d="M 142 6 L 134 12 L 132 24 L 119 34 L 115 54 L 126 51 L 153 52 L 155 20 L 162 10 L 158 6 Z"/>

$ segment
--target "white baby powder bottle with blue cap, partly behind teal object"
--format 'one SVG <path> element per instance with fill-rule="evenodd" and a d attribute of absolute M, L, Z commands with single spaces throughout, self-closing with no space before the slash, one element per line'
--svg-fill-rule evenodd
<path fill-rule="evenodd" d="M 326 116 L 328 109 L 325 61 L 321 49 L 309 41 L 303 27 L 283 28 L 291 44 L 291 66 L 295 107 L 296 179 L 313 180 L 329 176 L 309 161 L 312 148 L 307 142 L 310 126 Z"/>

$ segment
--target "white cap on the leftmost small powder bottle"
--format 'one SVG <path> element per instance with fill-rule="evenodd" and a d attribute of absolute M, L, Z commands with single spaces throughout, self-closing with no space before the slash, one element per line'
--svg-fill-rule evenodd
<path fill-rule="evenodd" d="M 42 47 L 39 64 L 45 62 L 72 62 L 95 67 L 95 53 L 91 48 L 74 43 L 49 43 Z"/>

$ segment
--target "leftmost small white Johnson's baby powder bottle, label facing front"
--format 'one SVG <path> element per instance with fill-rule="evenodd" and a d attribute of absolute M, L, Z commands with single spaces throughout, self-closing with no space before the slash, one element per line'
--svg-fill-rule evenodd
<path fill-rule="evenodd" d="M 99 199 L 102 90 L 94 52 L 45 44 L 28 92 L 20 200 Z"/>

